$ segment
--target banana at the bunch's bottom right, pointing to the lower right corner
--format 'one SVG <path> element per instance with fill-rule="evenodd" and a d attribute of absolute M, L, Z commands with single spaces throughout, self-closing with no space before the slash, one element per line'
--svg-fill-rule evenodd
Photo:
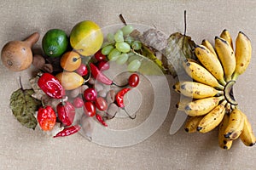
<path fill-rule="evenodd" d="M 247 146 L 253 146 L 256 142 L 255 135 L 253 134 L 253 129 L 251 123 L 248 121 L 247 116 L 244 114 L 244 126 L 240 134 L 240 139 L 243 144 Z"/>

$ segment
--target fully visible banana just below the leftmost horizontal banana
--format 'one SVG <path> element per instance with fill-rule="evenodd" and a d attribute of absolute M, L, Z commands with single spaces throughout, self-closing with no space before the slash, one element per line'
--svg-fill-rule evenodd
<path fill-rule="evenodd" d="M 224 99 L 224 96 L 191 101 L 185 106 L 185 112 L 189 116 L 206 115 L 209 111 L 212 111 L 212 109 L 214 109 L 222 99 Z"/>

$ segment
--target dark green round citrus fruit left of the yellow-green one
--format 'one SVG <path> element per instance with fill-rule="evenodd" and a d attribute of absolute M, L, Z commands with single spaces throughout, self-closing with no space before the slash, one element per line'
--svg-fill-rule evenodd
<path fill-rule="evenodd" d="M 44 35 L 42 45 L 46 55 L 49 57 L 59 57 L 67 50 L 67 34 L 59 29 L 51 29 Z"/>

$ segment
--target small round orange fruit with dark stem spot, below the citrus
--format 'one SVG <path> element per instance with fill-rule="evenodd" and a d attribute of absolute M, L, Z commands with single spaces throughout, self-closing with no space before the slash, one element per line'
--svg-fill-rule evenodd
<path fill-rule="evenodd" d="M 75 71 L 81 65 L 81 57 L 74 51 L 68 51 L 61 56 L 61 67 L 65 71 Z"/>

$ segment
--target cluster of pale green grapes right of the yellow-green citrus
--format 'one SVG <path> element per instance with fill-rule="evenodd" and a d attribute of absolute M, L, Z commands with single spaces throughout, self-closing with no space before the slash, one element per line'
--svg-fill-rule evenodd
<path fill-rule="evenodd" d="M 142 42 L 131 37 L 133 30 L 133 26 L 127 25 L 115 33 L 108 33 L 108 42 L 102 46 L 102 54 L 110 61 L 115 61 L 119 65 L 127 62 L 128 71 L 138 71 L 142 65 L 141 57 L 134 53 L 142 48 Z"/>

